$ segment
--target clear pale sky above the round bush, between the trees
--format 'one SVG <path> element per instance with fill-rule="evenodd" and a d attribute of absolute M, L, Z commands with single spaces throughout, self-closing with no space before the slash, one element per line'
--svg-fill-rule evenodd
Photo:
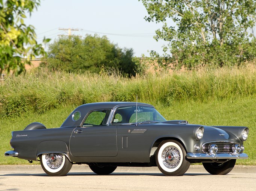
<path fill-rule="evenodd" d="M 25 24 L 35 27 L 38 43 L 43 37 L 51 38 L 67 35 L 62 29 L 78 29 L 71 34 L 106 35 L 111 43 L 120 48 L 133 48 L 134 56 L 150 56 L 155 50 L 163 54 L 165 41 L 156 41 L 153 36 L 162 24 L 145 21 L 147 10 L 138 0 L 41 0 Z M 44 45 L 47 51 L 48 45 Z"/>

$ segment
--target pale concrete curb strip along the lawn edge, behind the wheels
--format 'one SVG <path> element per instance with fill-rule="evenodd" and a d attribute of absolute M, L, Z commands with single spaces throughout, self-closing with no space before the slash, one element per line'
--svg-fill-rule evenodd
<path fill-rule="evenodd" d="M 0 173 L 43 172 L 41 165 L 0 165 Z M 73 165 L 70 172 L 91 172 L 88 165 Z M 117 167 L 115 172 L 157 172 L 158 167 Z M 208 173 L 202 165 L 190 165 L 186 173 Z M 256 173 L 256 166 L 236 165 L 231 173 Z"/>

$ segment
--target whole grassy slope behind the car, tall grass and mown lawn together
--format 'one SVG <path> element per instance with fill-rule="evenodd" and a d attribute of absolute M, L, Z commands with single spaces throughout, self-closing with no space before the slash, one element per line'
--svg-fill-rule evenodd
<path fill-rule="evenodd" d="M 256 62 L 256 61 L 255 61 Z M 166 119 L 184 119 L 202 125 L 250 128 L 245 142 L 248 160 L 256 165 L 256 64 L 193 71 L 173 71 L 123 78 L 118 72 L 70 74 L 36 70 L 8 75 L 0 82 L 0 151 L 10 149 L 10 132 L 31 122 L 58 127 L 76 107 L 102 101 L 153 104 Z M 26 163 L 0 155 L 0 164 Z"/>

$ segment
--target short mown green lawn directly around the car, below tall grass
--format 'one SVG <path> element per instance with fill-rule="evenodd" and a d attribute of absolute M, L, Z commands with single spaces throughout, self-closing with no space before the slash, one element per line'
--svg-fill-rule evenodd
<path fill-rule="evenodd" d="M 238 165 L 256 165 L 256 97 L 238 98 L 201 103 L 198 101 L 180 102 L 172 106 L 156 105 L 162 115 L 168 119 L 188 120 L 201 125 L 236 125 L 250 128 L 249 138 L 245 141 L 247 160 L 237 160 Z M 41 122 L 47 128 L 59 127 L 75 106 L 62 106 L 44 114 L 28 113 L 26 116 L 0 120 L 0 164 L 28 164 L 27 161 L 14 157 L 4 157 L 10 150 L 11 131 L 22 130 L 31 122 Z M 34 164 L 34 163 L 33 163 Z M 38 163 L 39 164 L 39 163 Z"/>

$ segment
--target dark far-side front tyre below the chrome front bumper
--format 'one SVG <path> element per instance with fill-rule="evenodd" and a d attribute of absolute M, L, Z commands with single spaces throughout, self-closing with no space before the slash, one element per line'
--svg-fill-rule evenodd
<path fill-rule="evenodd" d="M 226 175 L 234 168 L 236 161 L 231 159 L 225 163 L 203 163 L 203 166 L 212 175 Z"/>

